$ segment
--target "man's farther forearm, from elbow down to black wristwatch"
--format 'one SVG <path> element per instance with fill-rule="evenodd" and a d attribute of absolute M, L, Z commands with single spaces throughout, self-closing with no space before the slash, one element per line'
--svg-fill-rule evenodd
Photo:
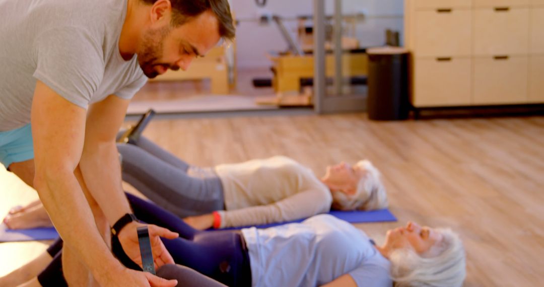
<path fill-rule="evenodd" d="M 86 188 L 100 205 L 110 226 L 131 212 L 122 189 L 119 154 L 113 140 L 92 145 L 86 143 L 79 168 Z"/>

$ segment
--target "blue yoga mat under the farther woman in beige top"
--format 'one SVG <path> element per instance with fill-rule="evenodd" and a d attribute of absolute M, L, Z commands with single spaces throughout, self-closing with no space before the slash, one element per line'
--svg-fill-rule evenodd
<path fill-rule="evenodd" d="M 339 219 L 345 220 L 350 223 L 364 223 L 364 222 L 387 222 L 387 221 L 397 221 L 391 211 L 388 209 L 381 210 L 372 210 L 372 211 L 338 211 L 333 210 L 329 212 L 330 215 L 336 216 Z M 302 222 L 305 219 L 281 222 L 281 223 L 271 223 L 264 225 L 257 225 L 257 228 L 268 228 L 273 226 L 279 226 L 287 223 Z M 242 229 L 244 227 L 233 227 L 225 229 Z M 57 230 L 53 227 L 46 228 L 32 228 L 32 229 L 19 229 L 11 230 L 8 229 L 5 224 L 0 225 L 0 242 L 12 242 L 12 241 L 30 241 L 30 240 L 51 240 L 57 239 L 59 234 Z"/>

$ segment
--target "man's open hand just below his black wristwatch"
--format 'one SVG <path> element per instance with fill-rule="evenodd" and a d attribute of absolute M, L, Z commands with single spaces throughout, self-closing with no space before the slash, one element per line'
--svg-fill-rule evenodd
<path fill-rule="evenodd" d="M 119 242 L 121 242 L 121 246 L 123 247 L 125 253 L 140 267 L 142 267 L 142 263 L 140 245 L 138 242 L 138 232 L 136 229 L 141 226 L 146 226 L 146 224 L 133 221 L 125 226 L 125 228 L 121 229 L 121 232 L 118 235 Z M 174 239 L 179 235 L 166 228 L 158 227 L 152 224 L 147 225 L 147 228 L 149 229 L 149 239 L 151 241 L 155 268 L 163 266 L 164 264 L 174 264 L 174 259 L 172 259 L 170 253 L 168 250 L 166 250 L 166 247 L 164 247 L 163 242 L 160 241 L 160 237 Z"/>

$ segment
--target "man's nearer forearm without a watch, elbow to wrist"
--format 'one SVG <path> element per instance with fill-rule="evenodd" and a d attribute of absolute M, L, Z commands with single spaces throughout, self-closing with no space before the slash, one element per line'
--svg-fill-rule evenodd
<path fill-rule="evenodd" d="M 91 209 L 72 172 L 54 167 L 38 171 L 35 188 L 67 247 L 96 278 L 122 268 L 98 233 Z"/>

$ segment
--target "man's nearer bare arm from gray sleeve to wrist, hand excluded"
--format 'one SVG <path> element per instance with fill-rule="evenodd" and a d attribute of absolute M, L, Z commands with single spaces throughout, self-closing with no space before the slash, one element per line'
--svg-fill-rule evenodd
<path fill-rule="evenodd" d="M 95 277 L 122 269 L 97 231 L 74 175 L 83 150 L 86 110 L 38 82 L 32 103 L 34 186 L 55 228 Z M 89 248 L 92 246 L 92 248 Z"/>

